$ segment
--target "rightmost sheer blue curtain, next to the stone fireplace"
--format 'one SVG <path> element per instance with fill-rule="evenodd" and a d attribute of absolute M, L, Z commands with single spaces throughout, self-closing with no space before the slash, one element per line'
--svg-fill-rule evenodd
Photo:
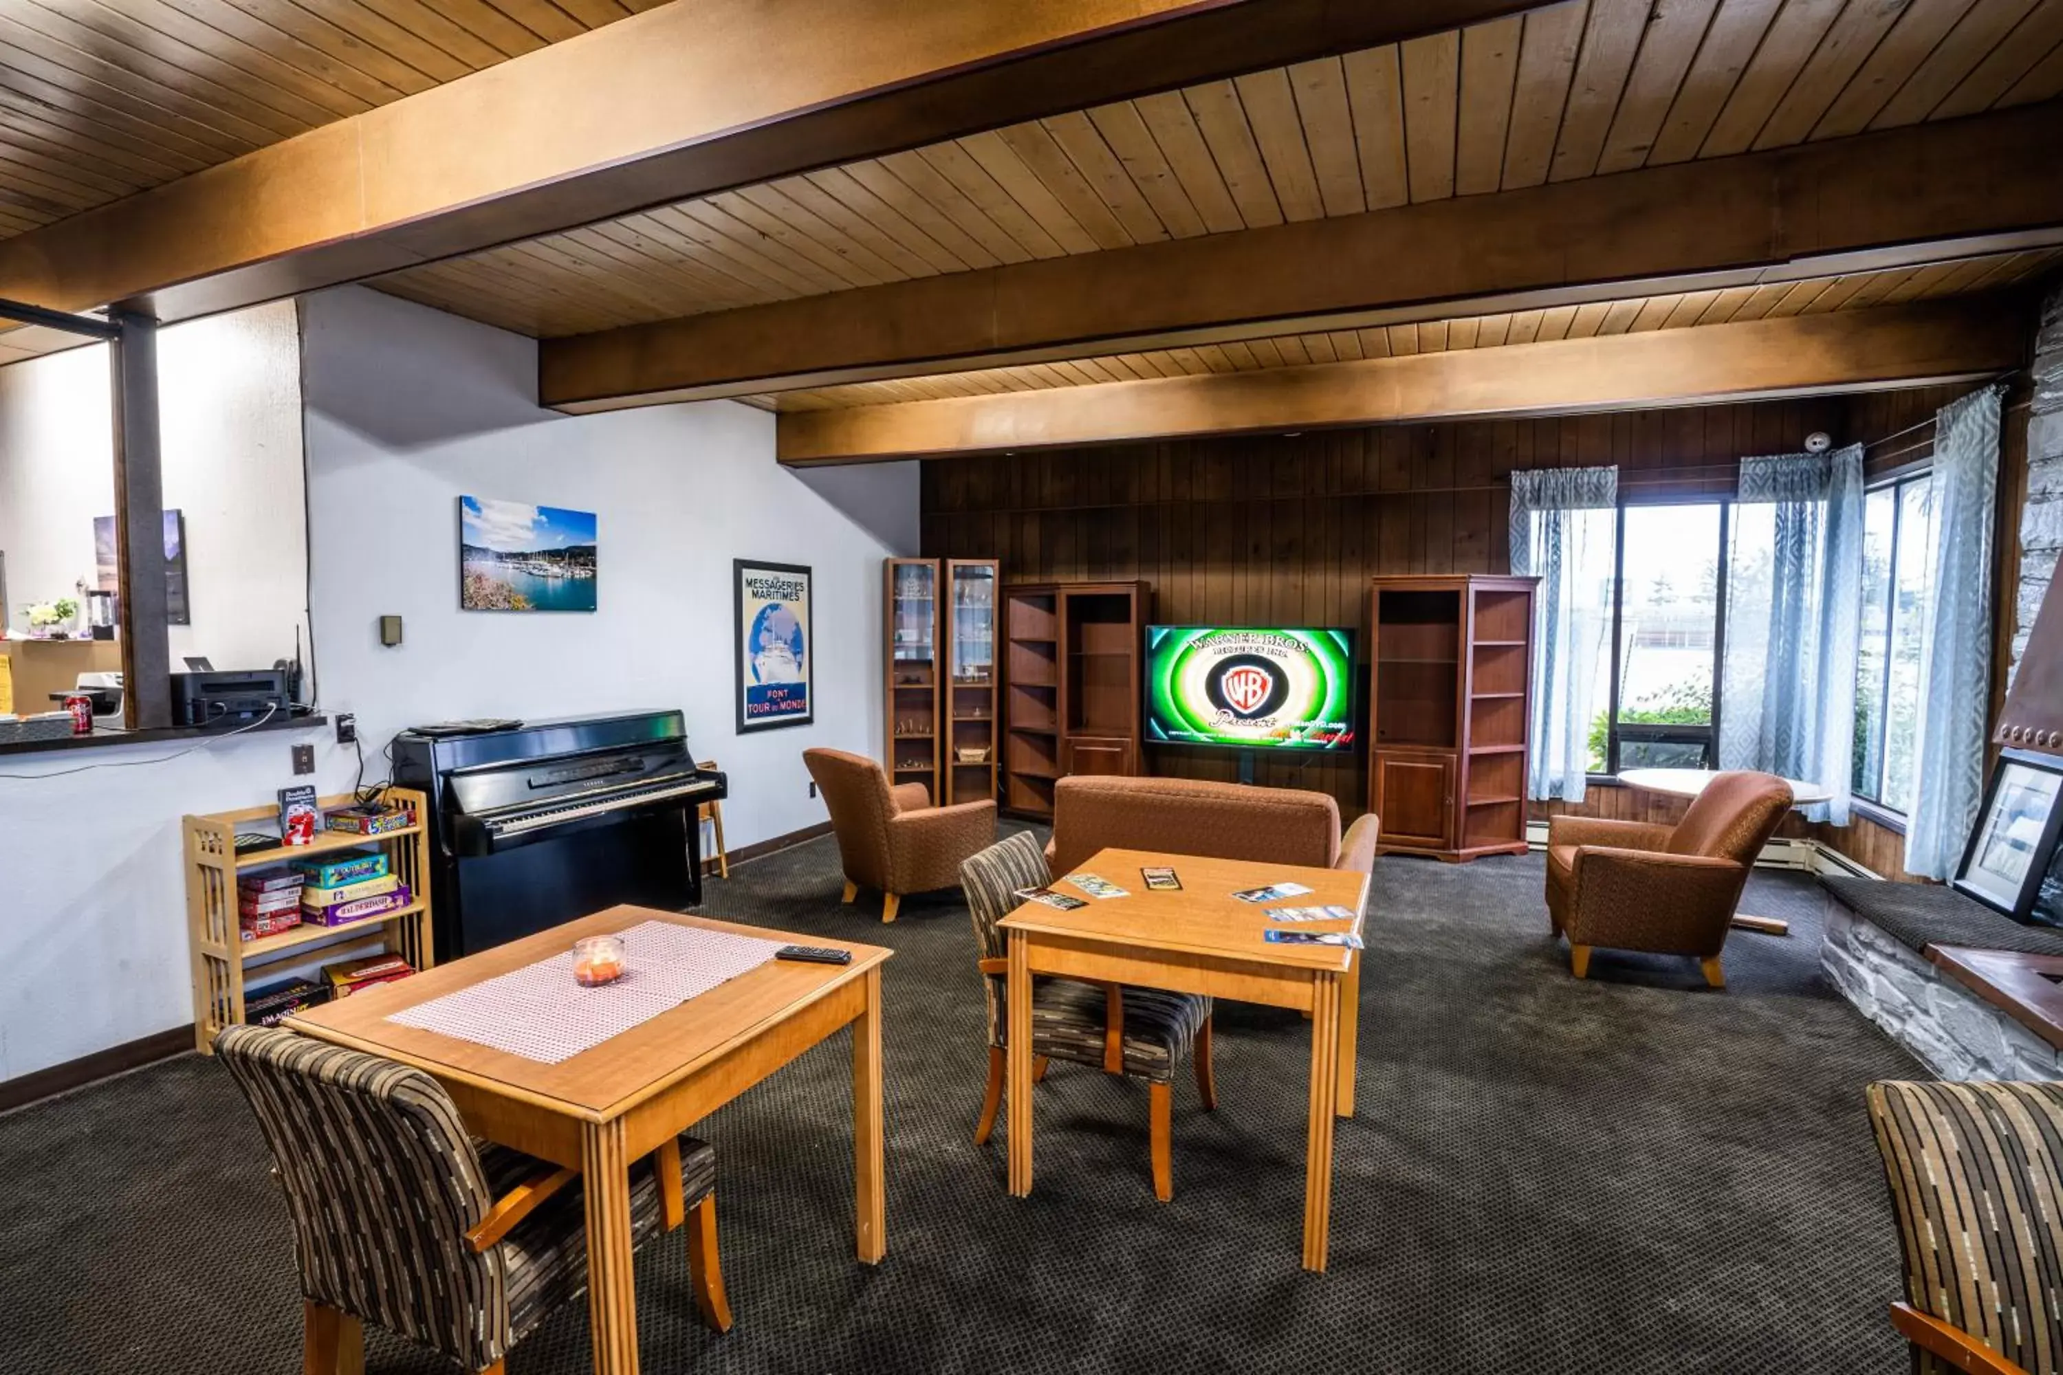
<path fill-rule="evenodd" d="M 1933 596 L 1921 623 L 1919 798 L 1906 818 L 1906 872 L 1921 878 L 1956 872 L 1985 794 L 2001 394 L 1983 388 L 1935 414 Z"/>

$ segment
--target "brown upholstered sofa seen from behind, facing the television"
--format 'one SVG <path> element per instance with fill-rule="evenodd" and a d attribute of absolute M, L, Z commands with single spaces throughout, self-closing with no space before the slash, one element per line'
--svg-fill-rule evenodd
<path fill-rule="evenodd" d="M 1046 845 L 1052 872 L 1073 872 L 1112 847 L 1366 874 L 1376 858 L 1376 816 L 1362 816 L 1341 837 L 1339 804 L 1322 792 L 1153 777 L 1060 779 Z"/>

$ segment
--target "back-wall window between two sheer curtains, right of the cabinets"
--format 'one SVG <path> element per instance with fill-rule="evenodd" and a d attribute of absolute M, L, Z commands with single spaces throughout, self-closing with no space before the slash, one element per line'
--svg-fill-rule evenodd
<path fill-rule="evenodd" d="M 1727 505 L 1619 509 L 1611 695 L 1591 726 L 1591 771 L 1712 761 Z"/>

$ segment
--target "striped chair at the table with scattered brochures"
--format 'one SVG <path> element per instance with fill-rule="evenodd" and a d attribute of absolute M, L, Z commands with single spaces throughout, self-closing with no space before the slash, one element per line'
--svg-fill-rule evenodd
<path fill-rule="evenodd" d="M 1009 944 L 996 926 L 1021 907 L 1019 888 L 1044 886 L 1052 874 L 1046 851 L 1027 833 L 1007 835 L 959 866 L 959 882 L 974 915 L 980 942 L 982 987 L 988 994 L 988 1095 L 974 1144 L 988 1142 L 1003 1103 L 1005 1043 L 1009 1027 L 1003 996 L 1009 975 Z M 1157 987 L 1083 983 L 1079 979 L 1038 979 L 1032 990 L 1032 1053 L 1040 1078 L 1048 1060 L 1073 1060 L 1106 1074 L 1147 1080 L 1151 1105 L 1153 1196 L 1174 1198 L 1174 1072 L 1194 1051 L 1197 1093 L 1205 1107 L 1217 1107 L 1211 1080 L 1211 1000 L 1170 994 Z"/>

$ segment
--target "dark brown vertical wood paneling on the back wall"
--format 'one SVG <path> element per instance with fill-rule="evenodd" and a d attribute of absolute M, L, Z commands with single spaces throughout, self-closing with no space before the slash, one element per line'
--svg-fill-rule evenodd
<path fill-rule="evenodd" d="M 1508 569 L 1512 470 L 1617 464 L 1628 501 L 1725 495 L 1741 456 L 1797 451 L 1805 435 L 1828 431 L 1836 443 L 1869 443 L 1867 470 L 1879 476 L 1929 458 L 1935 410 L 1966 390 L 937 460 L 924 464 L 922 544 L 926 557 L 1001 559 L 1007 581 L 1143 577 L 1155 590 L 1153 618 L 1168 625 L 1351 625 L 1366 639 L 1376 573 Z M 2016 402 L 1999 493 L 1999 588 L 2013 585 L 2026 484 L 2026 398 L 2007 398 Z M 2001 691 L 2009 635 L 2001 627 Z M 1232 779 L 1238 757 L 1153 748 L 1149 767 Z M 1329 792 L 1349 816 L 1366 810 L 1357 757 L 1263 757 L 1258 779 Z M 1603 785 L 1580 808 L 1533 810 L 1675 820 L 1683 804 Z M 1902 874 L 1904 835 L 1892 827 L 1793 818 L 1784 831 Z"/>

